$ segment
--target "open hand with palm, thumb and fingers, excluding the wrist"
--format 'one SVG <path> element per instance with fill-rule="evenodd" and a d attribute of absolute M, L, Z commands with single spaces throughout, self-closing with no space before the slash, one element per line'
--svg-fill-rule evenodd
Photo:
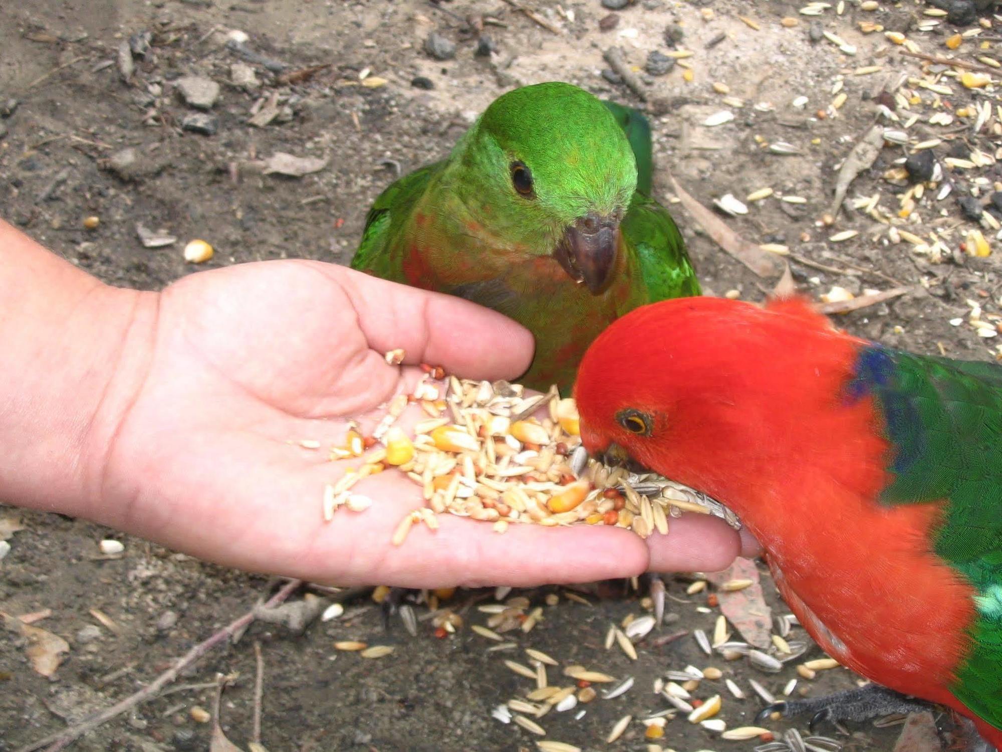
<path fill-rule="evenodd" d="M 404 365 L 385 361 L 394 348 Z M 397 547 L 397 523 L 423 501 L 395 471 L 364 481 L 369 509 L 323 520 L 325 484 L 358 464 L 326 450 L 344 444 L 349 418 L 371 428 L 422 362 L 513 378 L 532 348 L 528 332 L 491 311 L 334 265 L 190 275 L 160 296 L 148 373 L 107 448 L 91 516 L 218 563 L 340 585 L 519 586 L 726 566 L 737 536 L 699 515 L 674 520 L 649 548 L 617 528 L 498 534 L 451 515 Z"/>

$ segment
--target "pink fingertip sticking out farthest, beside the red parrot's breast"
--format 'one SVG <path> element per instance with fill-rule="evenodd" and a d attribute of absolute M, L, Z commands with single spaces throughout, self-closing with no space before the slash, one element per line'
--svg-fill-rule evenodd
<path fill-rule="evenodd" d="M 740 536 L 718 517 L 682 514 L 669 524 L 667 535 L 647 538 L 652 572 L 719 572 L 741 553 Z"/>

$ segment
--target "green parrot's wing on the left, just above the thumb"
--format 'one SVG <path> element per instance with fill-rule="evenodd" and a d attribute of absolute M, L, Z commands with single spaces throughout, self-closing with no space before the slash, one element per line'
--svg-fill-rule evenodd
<path fill-rule="evenodd" d="M 437 161 L 409 172 L 391 182 L 380 194 L 366 215 L 362 241 L 352 259 L 351 268 L 392 282 L 404 282 L 403 246 L 391 244 L 394 229 L 411 214 L 411 207 L 421 198 L 429 180 L 445 164 Z"/>

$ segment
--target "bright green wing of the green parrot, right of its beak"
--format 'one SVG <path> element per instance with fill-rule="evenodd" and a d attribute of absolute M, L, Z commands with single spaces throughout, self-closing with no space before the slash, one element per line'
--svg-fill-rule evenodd
<path fill-rule="evenodd" d="M 700 294 L 681 233 L 664 207 L 635 193 L 622 233 L 636 254 L 650 302 Z"/>

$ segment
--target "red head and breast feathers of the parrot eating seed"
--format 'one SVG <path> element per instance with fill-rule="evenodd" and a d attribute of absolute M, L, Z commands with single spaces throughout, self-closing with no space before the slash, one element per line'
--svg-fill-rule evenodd
<path fill-rule="evenodd" d="M 973 717 L 949 690 L 972 589 L 931 549 L 936 504 L 888 506 L 890 446 L 871 397 L 845 399 L 862 340 L 806 301 L 665 301 L 609 327 L 575 386 L 586 448 L 618 444 L 735 511 L 791 609 L 834 658 Z M 617 421 L 648 420 L 649 435 Z M 1002 732 L 979 723 L 1002 748 Z"/>

